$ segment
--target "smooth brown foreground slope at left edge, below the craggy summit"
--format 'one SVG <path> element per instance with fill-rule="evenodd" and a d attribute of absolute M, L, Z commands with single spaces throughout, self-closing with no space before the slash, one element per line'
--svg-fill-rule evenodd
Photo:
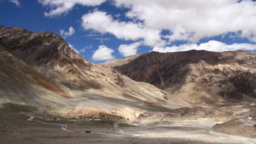
<path fill-rule="evenodd" d="M 23 61 L 13 57 L 0 44 L 0 108 L 4 110 L 36 110 L 70 99 L 74 94 L 64 85 L 39 74 Z M 51 95 L 51 97 L 49 97 Z M 53 105 L 52 105 L 53 106 Z"/>

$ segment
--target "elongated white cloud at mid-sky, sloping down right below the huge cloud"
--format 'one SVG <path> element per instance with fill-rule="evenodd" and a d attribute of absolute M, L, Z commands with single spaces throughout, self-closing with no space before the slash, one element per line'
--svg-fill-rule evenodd
<path fill-rule="evenodd" d="M 160 35 L 161 30 L 148 29 L 140 23 L 117 21 L 106 12 L 94 11 L 84 14 L 82 26 L 84 29 L 93 29 L 102 34 L 113 34 L 119 39 L 134 41 L 143 39 L 145 45 L 149 46 L 164 45 Z"/>

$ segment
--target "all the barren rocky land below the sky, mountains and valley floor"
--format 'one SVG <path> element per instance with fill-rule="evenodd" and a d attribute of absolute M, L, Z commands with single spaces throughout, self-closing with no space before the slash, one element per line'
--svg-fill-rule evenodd
<path fill-rule="evenodd" d="M 94 64 L 60 35 L 0 26 L 0 140 L 255 143 L 255 59 L 150 52 Z"/>

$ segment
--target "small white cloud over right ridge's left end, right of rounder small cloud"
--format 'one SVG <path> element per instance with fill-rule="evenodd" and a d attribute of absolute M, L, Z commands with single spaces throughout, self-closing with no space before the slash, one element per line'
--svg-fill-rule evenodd
<path fill-rule="evenodd" d="M 128 57 L 130 55 L 137 54 L 138 46 L 141 45 L 141 42 L 136 42 L 132 44 L 121 44 L 118 47 L 118 51 L 124 56 Z"/>

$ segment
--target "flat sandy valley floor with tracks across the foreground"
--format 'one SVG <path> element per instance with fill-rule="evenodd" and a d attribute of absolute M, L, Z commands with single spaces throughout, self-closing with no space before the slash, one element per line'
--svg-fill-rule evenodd
<path fill-rule="evenodd" d="M 0 114 L 3 143 L 256 143 L 256 139 L 215 132 L 221 122 L 125 124 L 110 121 L 51 120 L 52 116 Z M 65 125 L 65 128 L 63 126 Z M 84 133 L 91 130 L 92 133 Z"/>

